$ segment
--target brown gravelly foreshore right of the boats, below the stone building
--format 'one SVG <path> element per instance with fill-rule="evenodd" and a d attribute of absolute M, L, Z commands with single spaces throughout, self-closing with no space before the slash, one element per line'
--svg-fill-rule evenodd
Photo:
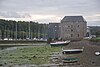
<path fill-rule="evenodd" d="M 79 58 L 79 62 L 84 65 L 84 67 L 100 67 L 100 55 L 95 55 L 96 51 L 100 52 L 100 46 L 95 45 L 95 43 L 91 44 L 90 41 L 85 40 L 71 42 L 68 46 L 64 47 L 64 49 L 82 47 L 84 47 L 84 51 L 82 53 L 74 54 L 72 56 Z"/>

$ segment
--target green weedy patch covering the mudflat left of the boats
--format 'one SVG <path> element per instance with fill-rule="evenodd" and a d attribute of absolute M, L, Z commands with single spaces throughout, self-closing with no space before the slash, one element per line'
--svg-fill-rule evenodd
<path fill-rule="evenodd" d="M 45 64 L 49 63 L 52 52 L 61 51 L 60 47 L 33 46 L 17 48 L 0 53 L 0 63 L 10 64 Z"/>

